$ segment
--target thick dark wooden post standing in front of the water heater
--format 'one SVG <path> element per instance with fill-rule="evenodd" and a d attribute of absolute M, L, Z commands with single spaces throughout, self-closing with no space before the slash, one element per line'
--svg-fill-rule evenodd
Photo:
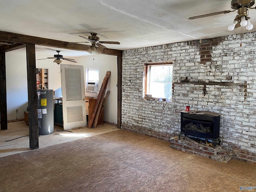
<path fill-rule="evenodd" d="M 38 149 L 38 116 L 36 95 L 36 53 L 35 44 L 26 44 L 27 76 L 28 76 L 28 114 L 29 114 L 29 147 Z"/>

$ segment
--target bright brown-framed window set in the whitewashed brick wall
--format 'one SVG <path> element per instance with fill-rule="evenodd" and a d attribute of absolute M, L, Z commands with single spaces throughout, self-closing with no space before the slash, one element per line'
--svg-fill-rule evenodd
<path fill-rule="evenodd" d="M 145 93 L 154 98 L 172 98 L 172 62 L 146 64 Z"/>

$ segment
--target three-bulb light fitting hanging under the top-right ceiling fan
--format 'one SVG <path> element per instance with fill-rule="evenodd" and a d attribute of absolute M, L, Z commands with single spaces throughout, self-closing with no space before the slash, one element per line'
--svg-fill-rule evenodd
<path fill-rule="evenodd" d="M 231 4 L 232 5 L 232 4 Z M 240 26 L 245 27 L 247 30 L 252 30 L 253 25 L 250 22 L 250 17 L 248 17 L 248 8 L 247 7 L 240 7 L 237 9 L 237 15 L 234 19 L 234 22 L 228 26 L 228 30 L 232 31 L 234 28 L 237 28 L 238 22 L 240 22 Z"/>

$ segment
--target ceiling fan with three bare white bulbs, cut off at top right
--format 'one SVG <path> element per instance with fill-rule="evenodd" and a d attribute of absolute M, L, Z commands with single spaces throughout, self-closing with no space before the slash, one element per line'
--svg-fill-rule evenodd
<path fill-rule="evenodd" d="M 239 26 L 246 26 L 247 30 L 252 30 L 253 25 L 250 23 L 250 17 L 248 17 L 248 9 L 255 9 L 256 7 L 252 8 L 254 5 L 255 0 L 232 0 L 231 1 L 231 8 L 234 9 L 233 11 L 225 10 L 220 12 L 214 12 L 210 14 L 204 14 L 199 16 L 190 17 L 188 19 L 198 19 L 218 14 L 226 14 L 230 12 L 234 12 L 237 10 L 237 15 L 234 19 L 234 22 L 228 26 L 228 30 L 232 31 L 234 28 L 238 28 Z"/>

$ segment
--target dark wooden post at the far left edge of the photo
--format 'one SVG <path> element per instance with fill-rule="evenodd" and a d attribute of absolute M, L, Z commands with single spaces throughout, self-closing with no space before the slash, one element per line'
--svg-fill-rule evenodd
<path fill-rule="evenodd" d="M 0 118 L 1 130 L 7 129 L 5 52 L 0 52 Z"/>

